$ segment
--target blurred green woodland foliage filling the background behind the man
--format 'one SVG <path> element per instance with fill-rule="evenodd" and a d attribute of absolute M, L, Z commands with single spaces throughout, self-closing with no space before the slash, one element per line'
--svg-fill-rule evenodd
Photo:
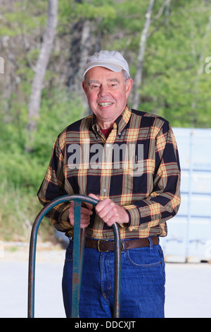
<path fill-rule="evenodd" d="M 148 0 L 58 0 L 37 131 L 31 153 L 26 153 L 30 94 L 48 1 L 0 0 L 1 192 L 12 186 L 35 197 L 56 136 L 89 112 L 81 86 L 87 54 L 120 51 L 132 78 L 136 76 L 148 4 Z M 205 71 L 205 59 L 211 56 L 211 1 L 153 1 L 146 37 L 137 108 L 165 117 L 172 126 L 211 127 L 211 76 Z M 131 106 L 134 93 L 129 97 Z"/>

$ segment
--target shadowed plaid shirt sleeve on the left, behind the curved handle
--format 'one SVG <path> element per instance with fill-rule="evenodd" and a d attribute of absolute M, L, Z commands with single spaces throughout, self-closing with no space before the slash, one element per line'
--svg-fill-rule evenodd
<path fill-rule="evenodd" d="M 51 161 L 37 196 L 41 204 L 45 206 L 53 199 L 67 194 L 64 189 L 63 150 L 60 148 L 58 137 L 53 145 Z M 69 202 L 60 203 L 58 206 L 51 208 L 49 213 L 46 214 L 46 218 L 50 218 L 56 230 L 72 236 L 73 227 L 70 225 L 68 218 L 69 207 Z"/>

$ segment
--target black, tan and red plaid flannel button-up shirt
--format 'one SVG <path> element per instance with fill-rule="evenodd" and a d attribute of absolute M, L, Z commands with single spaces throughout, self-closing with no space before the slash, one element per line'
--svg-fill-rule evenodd
<path fill-rule="evenodd" d="M 134 164 L 125 157 L 129 146 L 133 147 Z M 74 155 L 77 147 L 79 158 Z M 126 153 L 122 153 L 122 147 Z M 103 158 L 98 154 L 102 149 Z M 129 223 L 120 227 L 122 239 L 165 237 L 166 221 L 176 215 L 180 205 L 179 156 L 169 122 L 126 106 L 107 139 L 94 114 L 64 129 L 54 143 L 51 162 L 38 192 L 39 201 L 45 205 L 59 196 L 89 193 L 100 199 L 111 198 L 127 211 Z M 61 203 L 47 217 L 57 230 L 71 237 L 69 206 L 70 203 Z M 87 236 L 113 238 L 112 227 L 103 223 L 95 210 Z"/>

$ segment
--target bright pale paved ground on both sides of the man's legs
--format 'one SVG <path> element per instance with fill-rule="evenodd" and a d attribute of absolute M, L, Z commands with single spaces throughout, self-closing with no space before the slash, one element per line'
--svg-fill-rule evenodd
<path fill-rule="evenodd" d="M 17 247 L 15 247 L 17 249 Z M 0 317 L 27 317 L 28 248 L 0 252 Z M 65 251 L 37 250 L 35 316 L 65 317 L 61 277 Z M 166 317 L 211 317 L 211 264 L 166 263 Z"/>

